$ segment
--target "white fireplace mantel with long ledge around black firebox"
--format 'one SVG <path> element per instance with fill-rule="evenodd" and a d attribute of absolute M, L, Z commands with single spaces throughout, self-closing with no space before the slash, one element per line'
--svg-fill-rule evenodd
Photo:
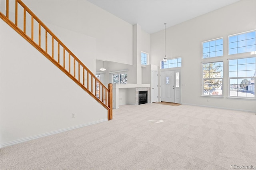
<path fill-rule="evenodd" d="M 150 103 L 150 84 L 113 84 L 113 109 L 119 109 L 119 89 L 125 90 L 127 101 L 125 104 L 138 105 L 138 91 L 148 91 L 148 103 Z"/>

